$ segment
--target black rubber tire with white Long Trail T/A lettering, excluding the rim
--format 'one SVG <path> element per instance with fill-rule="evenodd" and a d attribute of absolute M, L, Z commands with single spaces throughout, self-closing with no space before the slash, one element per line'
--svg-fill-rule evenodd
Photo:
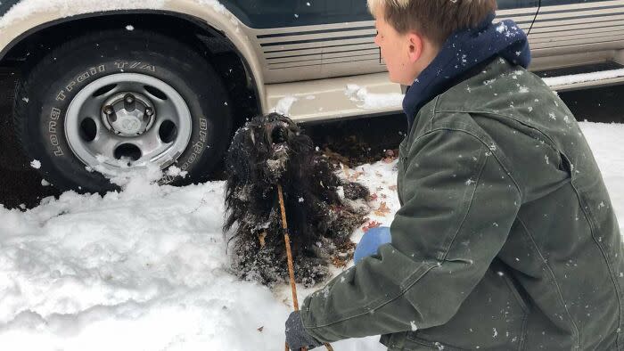
<path fill-rule="evenodd" d="M 44 74 L 32 77 L 37 84 L 29 84 L 33 87 L 29 94 L 35 96 L 23 100 L 39 101 L 40 107 L 32 103 L 26 109 L 28 116 L 35 117 L 29 118 L 25 130 L 27 143 L 32 147 L 31 155 L 42 159 L 42 170 L 48 180 L 62 190 L 75 188 L 76 184 L 82 184 L 82 190 L 94 192 L 116 188 L 102 174 L 87 170 L 71 151 L 64 130 L 65 115 L 72 99 L 85 86 L 111 74 L 138 73 L 158 78 L 182 95 L 191 112 L 192 135 L 174 164 L 188 172 L 188 176 L 180 179 L 166 175 L 160 183 L 187 184 L 207 179 L 225 150 L 226 135 L 231 129 L 227 95 L 208 62 L 183 45 L 170 47 L 176 46 L 175 42 L 152 41 L 142 50 L 124 50 L 132 45 L 144 43 L 127 40 L 124 45 L 105 41 L 85 45 L 78 55 L 63 58 L 62 64 L 55 57 L 42 62 L 48 66 L 40 70 Z M 176 53 L 176 57 L 164 53 Z"/>

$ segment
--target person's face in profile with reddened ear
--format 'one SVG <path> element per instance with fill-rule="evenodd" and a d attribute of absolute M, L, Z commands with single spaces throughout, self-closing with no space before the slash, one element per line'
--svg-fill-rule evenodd
<path fill-rule="evenodd" d="M 382 59 L 393 83 L 411 86 L 415 78 L 431 62 L 423 55 L 428 42 L 414 31 L 398 33 L 384 18 L 382 6 L 375 12 L 377 36 L 374 43 L 382 52 Z"/>

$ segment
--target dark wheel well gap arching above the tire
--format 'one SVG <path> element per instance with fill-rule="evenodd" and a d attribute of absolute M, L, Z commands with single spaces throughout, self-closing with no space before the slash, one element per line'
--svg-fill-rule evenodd
<path fill-rule="evenodd" d="M 234 45 L 206 22 L 179 13 L 124 12 L 100 14 L 96 17 L 90 15 L 63 21 L 24 37 L 6 53 L 4 59 L 0 61 L 0 66 L 12 66 L 25 72 L 53 48 L 73 37 L 126 27 L 128 30 L 143 29 L 158 32 L 201 53 L 222 78 L 233 102 L 231 108 L 234 115 L 234 130 L 242 126 L 246 118 L 258 114 L 261 110 L 256 83 Z"/>

